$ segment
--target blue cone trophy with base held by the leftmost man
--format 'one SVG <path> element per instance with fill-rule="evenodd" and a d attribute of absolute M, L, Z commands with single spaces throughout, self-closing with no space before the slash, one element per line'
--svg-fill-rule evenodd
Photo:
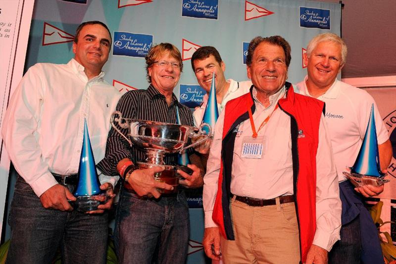
<path fill-rule="evenodd" d="M 107 201 L 105 192 L 99 188 L 100 182 L 95 164 L 87 120 L 84 119 L 84 139 L 78 168 L 78 183 L 73 194 L 77 198 L 77 201 L 73 203 L 77 211 L 97 210 L 100 204 Z"/>

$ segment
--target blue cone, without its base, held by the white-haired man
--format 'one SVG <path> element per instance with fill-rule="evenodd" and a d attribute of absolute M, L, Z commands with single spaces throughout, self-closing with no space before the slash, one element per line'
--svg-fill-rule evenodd
<path fill-rule="evenodd" d="M 366 134 L 356 161 L 350 168 L 351 173 L 373 177 L 381 177 L 380 156 L 378 153 L 377 131 L 375 129 L 374 104 L 371 105 L 370 119 L 368 120 Z"/>

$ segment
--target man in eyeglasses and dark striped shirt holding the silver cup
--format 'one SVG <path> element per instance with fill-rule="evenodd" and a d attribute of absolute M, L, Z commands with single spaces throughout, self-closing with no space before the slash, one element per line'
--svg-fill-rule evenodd
<path fill-rule="evenodd" d="M 152 120 L 166 123 L 193 125 L 193 116 L 187 106 L 181 105 L 173 89 L 183 69 L 179 50 L 169 43 L 150 49 L 146 56 L 147 90 L 124 94 L 117 110 L 125 118 Z M 121 129 L 127 134 L 127 129 Z M 143 160 L 145 153 L 130 147 L 114 129 L 107 138 L 106 155 L 98 166 L 109 175 L 124 179 L 116 214 L 115 246 L 120 263 L 172 263 L 184 264 L 189 237 L 189 209 L 181 188 L 177 194 L 162 195 L 158 189 L 172 190 L 164 182 L 154 180 L 154 173 L 162 167 L 137 169 L 134 162 Z M 167 155 L 166 164 L 176 164 L 177 154 Z M 181 185 L 195 188 L 203 185 L 200 170 L 192 175 L 178 171 L 185 177 Z"/>

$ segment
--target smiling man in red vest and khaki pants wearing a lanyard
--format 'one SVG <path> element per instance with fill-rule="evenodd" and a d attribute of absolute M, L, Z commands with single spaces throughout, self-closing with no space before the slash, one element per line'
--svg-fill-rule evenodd
<path fill-rule="evenodd" d="M 214 260 L 221 245 L 225 263 L 325 264 L 340 237 L 324 105 L 286 82 L 290 51 L 280 36 L 254 38 L 253 86 L 217 120 L 203 187 L 203 247 Z"/>

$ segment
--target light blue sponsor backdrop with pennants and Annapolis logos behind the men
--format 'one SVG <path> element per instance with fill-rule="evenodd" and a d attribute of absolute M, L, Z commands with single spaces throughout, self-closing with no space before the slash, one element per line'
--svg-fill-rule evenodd
<path fill-rule="evenodd" d="M 178 47 L 184 70 L 174 93 L 194 108 L 204 95 L 190 61 L 199 47 L 216 47 L 226 77 L 244 81 L 249 41 L 281 35 L 292 46 L 288 81 L 296 83 L 305 76 L 307 42 L 323 32 L 340 35 L 341 5 L 303 0 L 36 0 L 25 70 L 37 62 L 66 63 L 73 57 L 78 24 L 88 20 L 106 23 L 112 33 L 105 79 L 120 93 L 148 87 L 144 57 L 152 45 L 170 42 Z M 188 263 L 204 262 L 202 201 L 196 194 L 190 199 Z"/>

